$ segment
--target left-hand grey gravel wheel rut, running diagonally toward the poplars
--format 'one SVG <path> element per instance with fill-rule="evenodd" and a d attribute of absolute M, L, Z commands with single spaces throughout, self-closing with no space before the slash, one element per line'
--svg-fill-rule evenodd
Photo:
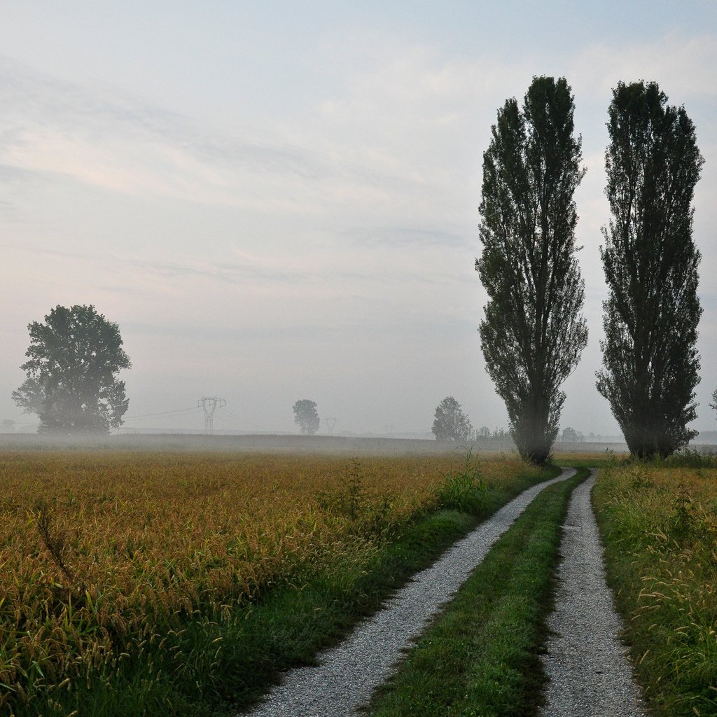
<path fill-rule="evenodd" d="M 439 612 L 533 498 L 546 486 L 574 473 L 571 469 L 564 470 L 558 478 L 528 488 L 504 505 L 455 543 L 435 564 L 414 576 L 383 609 L 359 623 L 341 645 L 322 652 L 316 667 L 288 671 L 282 684 L 250 715 L 346 717 L 356 714 L 374 688 L 390 677 L 402 651 L 412 645 L 426 622 Z"/>

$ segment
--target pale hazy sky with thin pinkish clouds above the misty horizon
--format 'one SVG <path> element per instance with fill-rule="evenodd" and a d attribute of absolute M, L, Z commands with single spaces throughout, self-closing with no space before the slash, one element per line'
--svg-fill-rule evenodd
<path fill-rule="evenodd" d="M 594 387 L 607 105 L 619 80 L 684 104 L 706 164 L 698 428 L 717 427 L 717 2 L 108 2 L 0 5 L 0 419 L 27 323 L 117 322 L 125 423 L 428 431 L 454 396 L 507 424 L 477 327 L 483 151 L 533 75 L 573 88 L 589 346 L 561 425 L 617 433 Z M 323 424 L 322 424 L 323 429 Z"/>

